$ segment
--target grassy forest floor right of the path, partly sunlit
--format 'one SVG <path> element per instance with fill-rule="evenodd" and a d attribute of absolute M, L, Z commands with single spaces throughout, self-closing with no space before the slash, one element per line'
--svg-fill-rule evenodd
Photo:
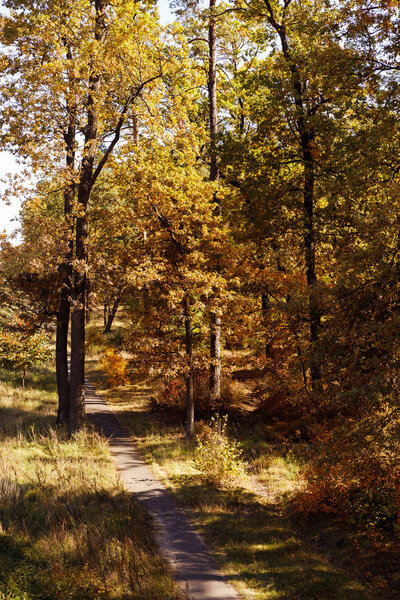
<path fill-rule="evenodd" d="M 193 465 L 195 442 L 184 437 L 182 415 L 154 410 L 152 390 L 145 383 L 108 388 L 96 356 L 88 361 L 87 375 L 243 598 L 400 597 L 400 578 L 390 586 L 385 578 L 388 560 L 396 557 L 377 555 L 365 534 L 328 518 L 305 521 L 297 511 L 292 500 L 302 484 L 301 444 L 267 443 L 257 423 L 237 422 L 234 433 L 251 466 L 249 474 L 231 489 L 204 485 Z"/>

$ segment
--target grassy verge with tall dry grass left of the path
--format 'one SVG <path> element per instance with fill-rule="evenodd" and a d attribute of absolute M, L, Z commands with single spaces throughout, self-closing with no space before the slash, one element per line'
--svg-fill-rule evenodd
<path fill-rule="evenodd" d="M 51 371 L 0 382 L 0 600 L 177 600 L 105 440 L 52 428 Z"/>

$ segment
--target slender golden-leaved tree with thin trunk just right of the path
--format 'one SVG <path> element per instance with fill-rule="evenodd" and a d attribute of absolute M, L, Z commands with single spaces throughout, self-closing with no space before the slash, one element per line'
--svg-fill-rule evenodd
<path fill-rule="evenodd" d="M 224 248 L 226 230 L 215 218 L 215 187 L 204 181 L 197 165 L 196 127 L 174 98 L 169 130 L 163 137 L 157 133 L 143 141 L 135 158 L 121 161 L 114 185 L 123 186 L 120 193 L 130 215 L 127 222 L 142 234 L 130 236 L 132 245 L 125 246 L 133 257 L 128 277 L 131 282 L 136 279 L 136 289 L 146 290 L 150 303 L 142 311 L 143 331 L 139 331 L 135 312 L 130 349 L 135 362 L 136 355 L 140 360 L 145 354 L 153 372 L 161 357 L 164 373 L 169 370 L 184 377 L 186 435 L 190 438 L 199 329 L 214 286 L 224 289 L 223 278 L 210 272 L 207 262 L 217 248 Z M 124 238 L 125 244 L 128 239 Z M 158 330 L 157 334 L 152 330 Z"/>

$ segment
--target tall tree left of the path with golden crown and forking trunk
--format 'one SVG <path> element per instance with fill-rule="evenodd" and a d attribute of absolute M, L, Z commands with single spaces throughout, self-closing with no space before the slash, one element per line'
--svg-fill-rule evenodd
<path fill-rule="evenodd" d="M 120 141 L 133 103 L 146 106 L 145 94 L 155 90 L 171 57 L 168 52 L 163 55 L 151 4 L 82 0 L 71 7 L 60 0 L 36 7 L 10 0 L 7 7 L 14 12 L 4 18 L 2 28 L 3 142 L 29 159 L 34 170 L 58 174 L 67 232 L 74 224 L 73 243 L 67 233 L 70 249 L 64 260 L 59 348 L 65 351 L 69 300 L 72 432 L 84 420 L 90 196 Z M 76 137 L 78 131 L 82 139 Z M 65 380 L 65 352 L 57 364 Z"/>

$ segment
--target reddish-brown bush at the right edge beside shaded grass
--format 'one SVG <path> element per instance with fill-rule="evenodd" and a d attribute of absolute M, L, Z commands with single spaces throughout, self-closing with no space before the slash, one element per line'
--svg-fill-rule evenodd
<path fill-rule="evenodd" d="M 349 440 L 343 430 L 325 432 L 304 475 L 299 505 L 308 514 L 330 513 L 379 529 L 392 529 L 400 521 L 399 466 L 387 448 L 382 452 L 368 441 Z"/>

